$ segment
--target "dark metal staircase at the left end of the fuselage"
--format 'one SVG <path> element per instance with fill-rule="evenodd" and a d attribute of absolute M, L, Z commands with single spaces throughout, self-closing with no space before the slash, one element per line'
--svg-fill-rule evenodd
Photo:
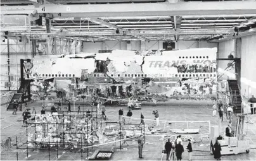
<path fill-rule="evenodd" d="M 11 98 L 11 102 L 8 105 L 7 110 L 13 109 L 13 101 L 16 100 L 16 102 L 18 102 L 20 98 L 23 98 L 25 96 L 28 90 L 30 90 L 30 80 L 24 80 L 22 85 L 20 85 L 20 88 L 18 88 L 18 92 L 15 93 Z"/>

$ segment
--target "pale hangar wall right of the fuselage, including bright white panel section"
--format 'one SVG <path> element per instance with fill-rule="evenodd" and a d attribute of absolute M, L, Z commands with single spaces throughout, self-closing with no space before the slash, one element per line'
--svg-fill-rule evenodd
<path fill-rule="evenodd" d="M 256 95 L 256 35 L 241 37 L 241 39 L 227 40 L 218 43 L 219 58 L 227 58 L 233 52 L 235 57 L 241 57 L 241 95 L 249 98 Z M 229 61 L 218 62 L 218 72 L 225 69 Z M 229 71 L 232 72 L 232 71 Z M 230 76 L 230 75 L 229 75 Z M 229 77 L 230 78 L 230 77 Z M 226 80 L 227 75 L 222 76 Z"/>

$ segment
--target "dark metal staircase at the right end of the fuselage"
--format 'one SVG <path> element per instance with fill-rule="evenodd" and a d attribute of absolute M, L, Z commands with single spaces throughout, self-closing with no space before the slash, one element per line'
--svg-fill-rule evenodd
<path fill-rule="evenodd" d="M 229 93 L 231 95 L 233 112 L 236 114 L 242 113 L 241 93 L 238 86 L 238 80 L 227 80 L 229 83 Z"/>

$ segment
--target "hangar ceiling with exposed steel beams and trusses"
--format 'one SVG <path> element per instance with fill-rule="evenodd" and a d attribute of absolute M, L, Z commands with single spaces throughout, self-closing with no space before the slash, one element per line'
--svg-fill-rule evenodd
<path fill-rule="evenodd" d="M 1 30 L 10 32 L 8 21 L 17 15 L 29 20 L 45 16 L 51 30 L 47 33 L 46 25 L 34 21 L 25 30 L 16 25 L 20 31 L 11 31 L 13 35 L 84 41 L 219 40 L 255 32 L 256 1 L 2 0 Z"/>

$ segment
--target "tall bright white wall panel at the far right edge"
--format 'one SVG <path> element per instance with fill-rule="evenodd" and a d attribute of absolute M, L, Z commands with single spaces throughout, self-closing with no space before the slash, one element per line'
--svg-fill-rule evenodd
<path fill-rule="evenodd" d="M 241 39 L 241 94 L 256 95 L 256 35 Z"/>

